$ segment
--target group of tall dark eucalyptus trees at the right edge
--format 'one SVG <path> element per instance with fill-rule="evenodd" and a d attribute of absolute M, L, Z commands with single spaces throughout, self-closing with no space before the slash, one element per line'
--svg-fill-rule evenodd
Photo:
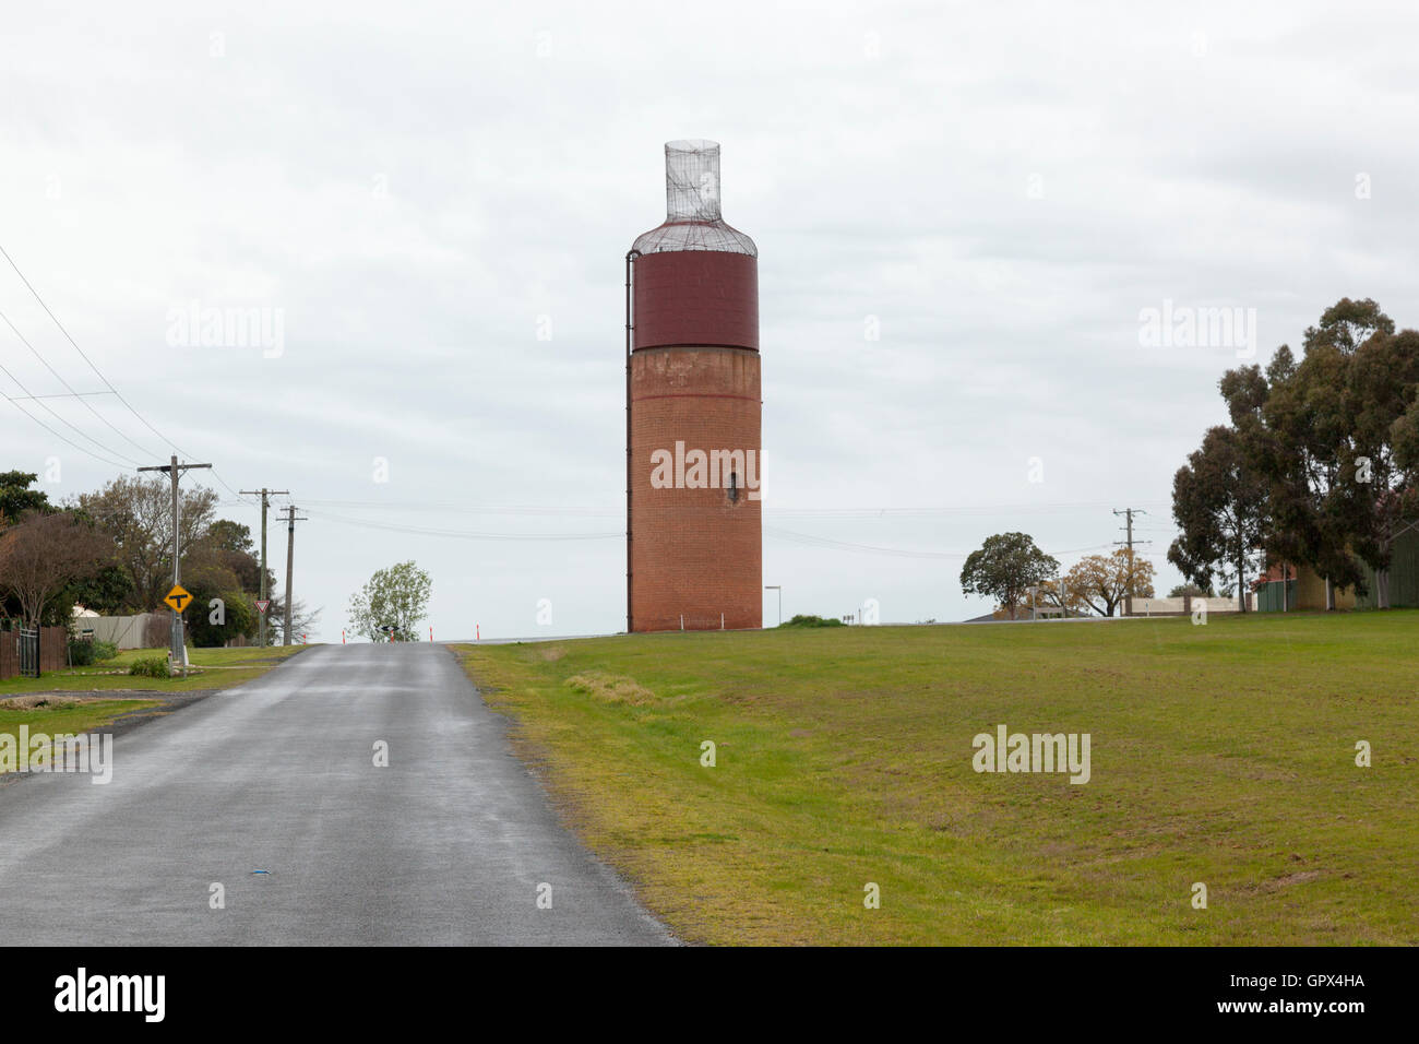
<path fill-rule="evenodd" d="M 1419 517 L 1419 331 L 1395 332 L 1375 301 L 1342 298 L 1260 365 L 1218 382 L 1229 425 L 1209 428 L 1174 476 L 1182 535 L 1168 561 L 1236 587 L 1276 564 L 1389 608 L 1395 540 Z"/>

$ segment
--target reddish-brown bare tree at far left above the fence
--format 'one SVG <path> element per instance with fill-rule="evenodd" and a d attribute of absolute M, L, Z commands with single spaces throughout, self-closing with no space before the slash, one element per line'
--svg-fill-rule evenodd
<path fill-rule="evenodd" d="M 92 526 L 67 513 L 27 511 L 0 535 L 0 589 L 14 594 L 28 626 L 38 626 L 58 594 L 111 561 L 112 544 Z"/>

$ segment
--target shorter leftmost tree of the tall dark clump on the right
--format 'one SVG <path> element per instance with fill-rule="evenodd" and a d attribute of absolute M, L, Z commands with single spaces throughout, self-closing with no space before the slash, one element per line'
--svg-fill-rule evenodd
<path fill-rule="evenodd" d="M 1236 585 L 1246 612 L 1247 572 L 1267 528 L 1267 484 L 1250 466 L 1233 428 L 1209 428 L 1202 447 L 1172 477 L 1172 517 L 1182 531 L 1168 561 L 1193 584 L 1212 589 L 1213 577 Z"/>

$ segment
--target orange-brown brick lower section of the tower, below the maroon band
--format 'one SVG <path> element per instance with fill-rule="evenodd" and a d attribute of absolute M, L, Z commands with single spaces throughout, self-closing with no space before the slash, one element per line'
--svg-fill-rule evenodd
<path fill-rule="evenodd" d="M 631 626 L 636 631 L 763 624 L 761 503 L 739 476 L 727 489 L 654 489 L 656 450 L 753 450 L 759 354 L 746 348 L 637 348 L 631 355 Z M 755 469 L 762 479 L 762 469 Z"/>

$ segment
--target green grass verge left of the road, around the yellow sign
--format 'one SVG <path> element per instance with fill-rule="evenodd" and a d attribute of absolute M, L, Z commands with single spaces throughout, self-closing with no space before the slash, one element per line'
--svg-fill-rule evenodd
<path fill-rule="evenodd" d="M 128 649 L 89 668 L 50 670 L 40 678 L 7 678 L 0 680 L 0 733 L 18 736 L 21 724 L 28 724 L 31 733 L 51 736 L 91 732 L 125 712 L 155 706 L 160 702 L 152 699 L 155 692 L 230 689 L 260 678 L 302 648 L 190 649 L 187 656 L 194 669 L 187 678 L 133 678 L 128 673 L 133 660 L 166 656 L 166 649 Z M 125 699 L 125 693 L 133 696 Z M 26 706 L 40 699 L 45 700 L 41 706 Z"/>

